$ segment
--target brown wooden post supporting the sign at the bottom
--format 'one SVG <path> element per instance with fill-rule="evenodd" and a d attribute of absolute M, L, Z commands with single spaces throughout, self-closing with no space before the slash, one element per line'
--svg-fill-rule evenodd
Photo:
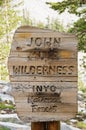
<path fill-rule="evenodd" d="M 33 122 L 31 130 L 60 130 L 60 121 L 53 122 Z"/>

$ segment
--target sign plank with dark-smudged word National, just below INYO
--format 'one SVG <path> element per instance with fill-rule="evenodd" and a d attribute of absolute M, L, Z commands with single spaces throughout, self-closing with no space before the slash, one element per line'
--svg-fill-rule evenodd
<path fill-rule="evenodd" d="M 77 90 L 64 90 L 61 94 L 26 94 L 20 92 L 14 92 L 13 96 L 16 99 L 16 103 L 20 104 L 42 104 L 42 103 L 76 103 L 77 102 Z M 16 95 L 16 97 L 15 97 Z M 21 99 L 20 99 L 21 98 Z"/>

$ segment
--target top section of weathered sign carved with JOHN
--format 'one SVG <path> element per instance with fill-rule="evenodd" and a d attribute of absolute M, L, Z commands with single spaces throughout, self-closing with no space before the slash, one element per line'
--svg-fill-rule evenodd
<path fill-rule="evenodd" d="M 72 34 L 35 27 L 20 27 L 15 32 L 11 51 L 21 52 L 32 49 L 48 50 L 53 48 L 76 51 L 76 43 L 76 38 Z"/>

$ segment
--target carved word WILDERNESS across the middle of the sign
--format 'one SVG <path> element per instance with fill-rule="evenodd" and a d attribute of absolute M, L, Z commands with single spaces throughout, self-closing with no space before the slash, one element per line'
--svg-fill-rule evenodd
<path fill-rule="evenodd" d="M 73 75 L 74 66 L 13 66 L 14 75 L 66 76 Z"/>

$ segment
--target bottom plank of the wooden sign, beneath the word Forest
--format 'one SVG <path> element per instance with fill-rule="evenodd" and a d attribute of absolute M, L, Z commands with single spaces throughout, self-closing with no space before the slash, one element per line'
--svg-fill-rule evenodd
<path fill-rule="evenodd" d="M 19 106 L 19 104 L 17 104 Z M 44 105 L 46 107 L 46 105 Z M 23 111 L 24 109 L 18 109 L 17 108 L 17 113 L 20 117 L 20 119 L 24 120 L 25 118 L 28 118 L 28 121 L 57 121 L 57 120 L 67 120 L 69 118 L 74 117 L 76 111 L 77 111 L 77 106 L 76 104 L 58 104 L 58 107 L 56 109 L 57 112 L 54 112 L 54 108 L 53 111 L 52 109 L 49 112 L 48 109 L 46 109 L 47 112 L 40 112 L 41 107 L 43 110 L 44 106 L 39 106 L 39 110 L 35 112 L 30 112 L 30 111 Z M 37 106 L 36 106 L 37 107 Z M 49 108 L 49 104 L 48 104 L 48 108 Z M 53 107 L 53 106 L 52 106 Z M 73 110 L 73 111 L 72 111 Z M 42 117 L 42 118 L 41 118 Z M 24 120 L 25 121 L 25 120 Z"/>

